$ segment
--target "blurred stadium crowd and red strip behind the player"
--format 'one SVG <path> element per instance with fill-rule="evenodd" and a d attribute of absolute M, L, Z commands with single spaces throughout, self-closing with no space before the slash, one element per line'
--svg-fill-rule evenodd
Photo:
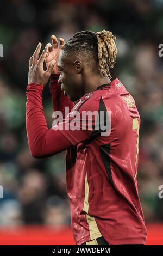
<path fill-rule="evenodd" d="M 163 245 L 163 0 L 9 0 L 1 2 L 0 43 L 0 244 L 74 244 L 65 185 L 65 153 L 30 156 L 26 127 L 29 57 L 51 35 L 108 29 L 117 36 L 119 78 L 135 97 L 141 115 L 139 193 L 147 244 Z M 49 86 L 43 105 L 49 128 Z M 161 224 L 162 223 L 162 224 Z"/>

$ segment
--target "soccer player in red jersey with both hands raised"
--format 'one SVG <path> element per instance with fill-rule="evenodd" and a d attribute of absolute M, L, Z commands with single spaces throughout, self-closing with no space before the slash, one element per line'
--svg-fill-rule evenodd
<path fill-rule="evenodd" d="M 147 230 L 136 179 L 140 116 L 123 84 L 111 81 L 116 38 L 109 31 L 82 31 L 66 44 L 60 39 L 60 46 L 55 36 L 52 39 L 53 47 L 47 45 L 39 57 L 39 44 L 29 63 L 30 152 L 49 157 L 66 150 L 67 194 L 77 245 L 143 245 Z M 54 111 L 65 114 L 69 107 L 70 113 L 48 130 L 42 93 L 50 76 Z"/>

